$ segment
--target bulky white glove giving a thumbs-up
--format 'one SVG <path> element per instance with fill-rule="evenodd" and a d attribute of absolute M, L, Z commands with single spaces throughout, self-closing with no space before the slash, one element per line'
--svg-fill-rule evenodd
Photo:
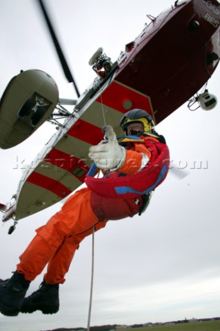
<path fill-rule="evenodd" d="M 117 170 L 126 159 L 126 149 L 119 146 L 112 126 L 107 126 L 106 136 L 108 141 L 104 140 L 99 145 L 91 146 L 88 156 L 100 169 Z"/>

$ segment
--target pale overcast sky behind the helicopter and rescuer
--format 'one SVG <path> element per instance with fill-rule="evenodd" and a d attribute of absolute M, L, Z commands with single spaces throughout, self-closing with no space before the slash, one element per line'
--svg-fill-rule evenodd
<path fill-rule="evenodd" d="M 102 46 L 115 61 L 125 44 L 149 22 L 146 14 L 157 16 L 172 1 L 46 0 L 46 4 L 83 92 L 95 77 L 88 66 L 93 52 Z M 75 98 L 36 1 L 2 0 L 0 8 L 0 94 L 21 69 L 37 68 L 57 81 L 61 97 Z M 217 69 L 208 85 L 210 92 L 217 95 L 219 72 Z M 186 165 L 189 174 L 180 180 L 170 172 L 154 192 L 145 214 L 111 221 L 95 234 L 91 325 L 220 316 L 219 110 L 217 106 L 210 112 L 190 112 L 183 105 L 157 126 L 157 131 L 166 137 L 171 159 L 181 162 L 183 168 Z M 30 163 L 53 132 L 54 126 L 46 123 L 28 141 L 11 150 L 0 150 L 1 203 L 17 190 L 21 162 Z M 11 276 L 34 230 L 60 208 L 58 203 L 19 221 L 11 236 L 8 228 L 12 222 L 1 225 L 1 279 Z M 89 237 L 81 243 L 66 283 L 60 287 L 61 307 L 57 314 L 1 315 L 0 330 L 86 327 L 91 250 Z M 42 279 L 43 275 L 31 283 L 28 294 L 37 290 Z"/>

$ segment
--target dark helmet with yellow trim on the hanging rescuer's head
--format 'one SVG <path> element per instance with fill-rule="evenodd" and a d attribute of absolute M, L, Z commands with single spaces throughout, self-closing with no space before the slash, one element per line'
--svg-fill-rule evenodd
<path fill-rule="evenodd" d="M 148 114 L 148 112 L 146 112 L 146 110 L 143 109 L 132 109 L 123 115 L 120 126 L 126 134 L 128 133 L 127 128 L 131 122 L 143 123 L 144 132 L 151 132 L 154 128 L 154 121 L 152 120 L 152 117 Z"/>

